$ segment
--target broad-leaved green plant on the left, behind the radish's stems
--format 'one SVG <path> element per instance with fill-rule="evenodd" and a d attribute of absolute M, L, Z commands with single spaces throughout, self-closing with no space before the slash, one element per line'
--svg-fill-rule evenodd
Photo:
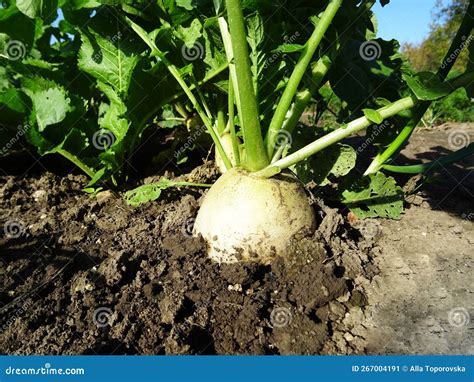
<path fill-rule="evenodd" d="M 0 9 L 2 142 L 28 125 L 41 155 L 64 156 L 91 186 L 127 178 L 144 131 L 170 127 L 182 94 L 109 4 L 6 1 Z M 196 74 L 195 86 L 226 66 Z"/>

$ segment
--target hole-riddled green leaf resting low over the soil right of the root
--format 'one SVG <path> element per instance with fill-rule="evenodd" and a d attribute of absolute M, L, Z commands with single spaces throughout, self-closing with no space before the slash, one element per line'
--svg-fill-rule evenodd
<path fill-rule="evenodd" d="M 342 202 L 359 218 L 400 219 L 403 196 L 395 179 L 378 172 L 350 183 L 342 192 Z"/>

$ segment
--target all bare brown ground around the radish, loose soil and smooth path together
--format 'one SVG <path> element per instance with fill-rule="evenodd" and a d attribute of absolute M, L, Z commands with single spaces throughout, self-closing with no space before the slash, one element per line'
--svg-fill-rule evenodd
<path fill-rule="evenodd" d="M 472 124 L 420 129 L 397 163 L 473 139 Z M 411 195 L 400 221 L 351 224 L 316 200 L 318 231 L 268 267 L 205 258 L 189 234 L 201 191 L 131 209 L 85 195 L 82 176 L 1 168 L 2 352 L 474 353 L 472 157 Z M 187 178 L 215 177 L 208 164 Z"/>

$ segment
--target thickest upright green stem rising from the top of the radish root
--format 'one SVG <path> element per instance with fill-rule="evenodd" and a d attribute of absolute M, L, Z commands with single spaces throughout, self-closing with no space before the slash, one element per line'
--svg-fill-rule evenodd
<path fill-rule="evenodd" d="M 240 2 L 241 0 L 226 0 L 227 16 L 237 76 L 236 92 L 240 102 L 239 117 L 246 150 L 245 167 L 249 171 L 258 171 L 267 166 L 269 160 L 260 128 L 258 104 L 250 68 L 247 33 Z"/>

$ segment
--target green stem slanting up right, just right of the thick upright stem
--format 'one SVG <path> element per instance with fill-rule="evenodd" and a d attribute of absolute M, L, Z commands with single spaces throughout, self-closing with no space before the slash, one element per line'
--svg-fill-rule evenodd
<path fill-rule="evenodd" d="M 303 52 L 291 74 L 288 84 L 286 85 L 285 91 L 278 103 L 278 106 L 273 115 L 270 127 L 268 129 L 266 138 L 266 149 L 267 155 L 272 157 L 273 150 L 275 149 L 275 143 L 278 136 L 278 132 L 281 130 L 283 123 L 285 122 L 286 114 L 290 109 L 293 98 L 295 97 L 301 80 L 308 68 L 311 60 L 313 59 L 316 49 L 318 48 L 321 40 L 324 37 L 327 29 L 329 28 L 332 20 L 334 19 L 336 12 L 342 5 L 342 0 L 332 0 L 324 11 L 321 19 L 316 25 L 313 34 L 307 41 Z"/>

